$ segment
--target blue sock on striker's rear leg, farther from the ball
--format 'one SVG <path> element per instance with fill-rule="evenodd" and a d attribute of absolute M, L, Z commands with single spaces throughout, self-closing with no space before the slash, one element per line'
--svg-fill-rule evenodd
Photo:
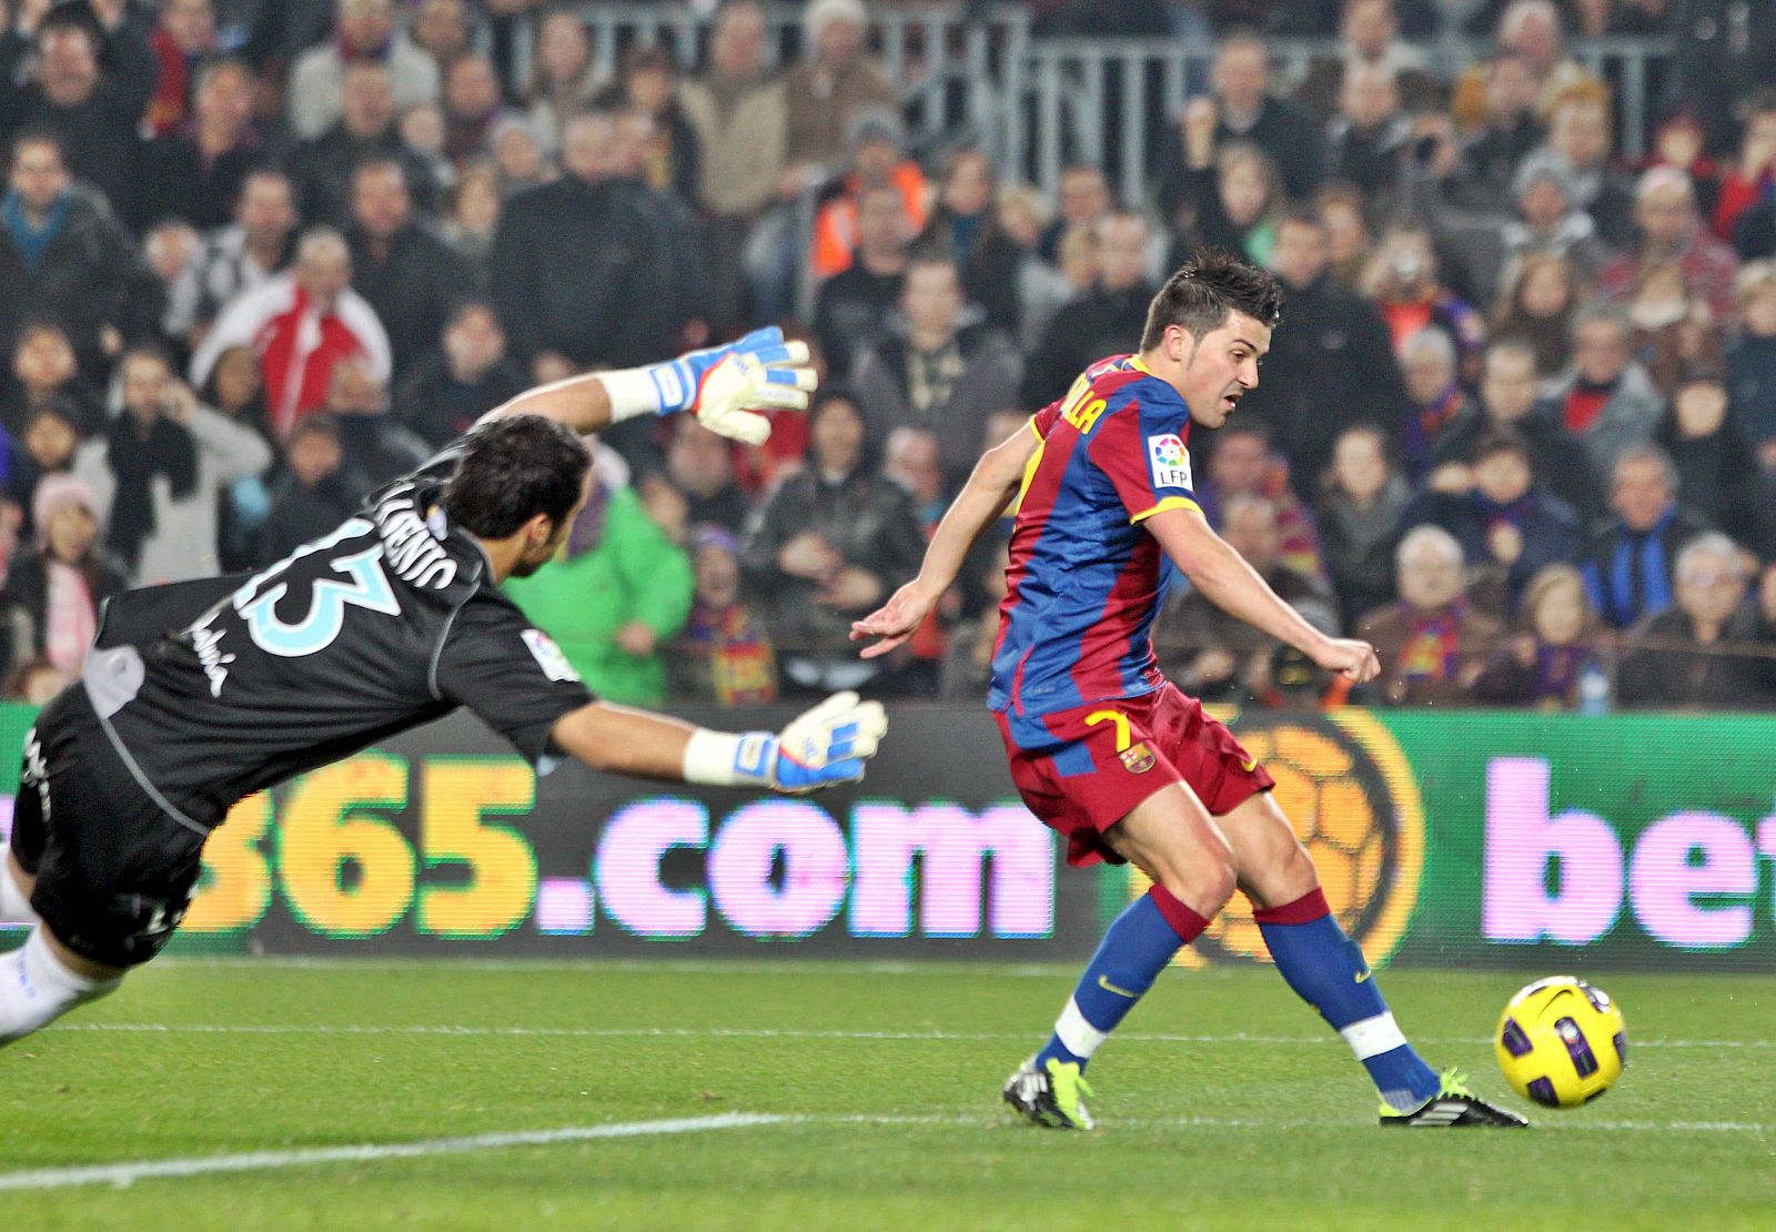
<path fill-rule="evenodd" d="M 1060 1010 L 1055 1033 L 1035 1054 L 1035 1069 L 1058 1060 L 1083 1070 L 1172 955 L 1195 941 L 1208 923 L 1163 886 L 1153 886 L 1131 902 L 1098 944 L 1073 998 Z"/>

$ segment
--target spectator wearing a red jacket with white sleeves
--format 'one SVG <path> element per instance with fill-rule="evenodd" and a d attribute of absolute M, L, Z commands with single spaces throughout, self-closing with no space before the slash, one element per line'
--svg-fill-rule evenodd
<path fill-rule="evenodd" d="M 327 401 L 334 366 L 361 359 L 377 380 L 391 371 L 389 336 L 377 311 L 352 289 L 352 252 L 337 231 L 314 227 L 297 245 L 297 263 L 236 296 L 192 355 L 202 385 L 229 346 L 252 346 L 265 373 L 272 430 L 279 438 Z"/>

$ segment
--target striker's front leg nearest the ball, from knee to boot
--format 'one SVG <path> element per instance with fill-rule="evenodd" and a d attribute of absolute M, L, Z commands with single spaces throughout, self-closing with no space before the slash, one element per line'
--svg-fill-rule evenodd
<path fill-rule="evenodd" d="M 1312 857 L 1270 792 L 1215 820 L 1277 971 L 1369 1070 L 1382 1095 L 1382 1124 L 1526 1124 L 1467 1092 L 1453 1070 L 1437 1074 L 1407 1042 L 1362 950 L 1332 918 Z"/>

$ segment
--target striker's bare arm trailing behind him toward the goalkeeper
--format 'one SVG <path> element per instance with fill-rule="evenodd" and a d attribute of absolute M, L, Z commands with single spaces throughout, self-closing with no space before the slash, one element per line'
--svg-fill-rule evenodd
<path fill-rule="evenodd" d="M 863 620 L 851 621 L 851 641 L 877 639 L 863 648 L 863 659 L 886 655 L 913 636 L 925 614 L 943 598 L 943 591 L 950 589 L 968 557 L 968 549 L 1018 495 L 1023 470 L 1039 444 L 1035 431 L 1025 426 L 982 454 L 968 483 L 945 511 L 936 534 L 931 536 L 918 577 Z"/>

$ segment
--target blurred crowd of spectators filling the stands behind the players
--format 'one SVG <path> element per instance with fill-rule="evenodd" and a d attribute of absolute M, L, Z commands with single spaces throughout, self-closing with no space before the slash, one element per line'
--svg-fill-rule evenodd
<path fill-rule="evenodd" d="M 781 62 L 725 0 L 694 71 L 638 41 L 609 76 L 581 5 L 0 0 L 0 678 L 41 699 L 119 588 L 277 561 L 535 382 L 776 321 L 813 408 L 757 449 L 607 433 L 513 596 L 616 701 L 973 698 L 1007 525 L 897 655 L 849 621 L 1220 245 L 1288 307 L 1192 442 L 1197 495 L 1385 673 L 1352 698 L 1174 577 L 1181 683 L 1776 707 L 1776 92 L 1746 85 L 1776 82 L 1776 5 L 1732 43 L 1709 9 L 1032 4 L 1037 34 L 1213 46 L 1119 201 L 1090 162 L 1044 192 L 911 135 L 865 0 L 808 0 Z M 1456 14 L 1488 53 L 1439 76 L 1421 39 Z M 1566 50 L 1607 34 L 1678 36 L 1645 160 Z M 1325 55 L 1284 80 L 1272 36 Z"/>

